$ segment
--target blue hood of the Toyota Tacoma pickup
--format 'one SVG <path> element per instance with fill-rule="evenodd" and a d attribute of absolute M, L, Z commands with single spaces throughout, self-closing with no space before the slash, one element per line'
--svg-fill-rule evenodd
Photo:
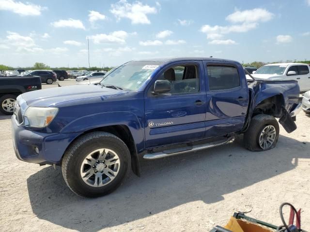
<path fill-rule="evenodd" d="M 86 98 L 105 97 L 125 94 L 127 91 L 95 85 L 75 85 L 32 91 L 22 94 L 29 106 L 48 107 L 59 103 L 76 101 Z"/>

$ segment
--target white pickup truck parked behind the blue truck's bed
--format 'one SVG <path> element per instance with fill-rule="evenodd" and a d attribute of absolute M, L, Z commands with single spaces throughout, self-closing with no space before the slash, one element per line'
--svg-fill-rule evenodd
<path fill-rule="evenodd" d="M 310 66 L 303 63 L 267 64 L 254 71 L 252 76 L 268 80 L 296 80 L 300 91 L 310 90 Z"/>

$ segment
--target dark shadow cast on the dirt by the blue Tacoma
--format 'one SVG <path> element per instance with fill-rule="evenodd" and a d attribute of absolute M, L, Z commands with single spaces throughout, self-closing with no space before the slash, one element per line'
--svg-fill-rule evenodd
<path fill-rule="evenodd" d="M 232 145 L 143 161 L 134 174 L 108 196 L 86 199 L 65 185 L 61 169 L 42 169 L 27 179 L 32 211 L 40 219 L 78 231 L 99 231 L 157 214 L 184 203 L 205 204 L 223 195 L 293 170 L 298 158 L 310 158 L 310 143 L 280 135 L 277 148 L 249 152 L 242 136 Z"/>

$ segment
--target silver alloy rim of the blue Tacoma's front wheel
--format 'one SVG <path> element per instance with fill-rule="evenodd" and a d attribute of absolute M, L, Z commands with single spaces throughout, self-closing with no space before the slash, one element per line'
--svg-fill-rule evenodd
<path fill-rule="evenodd" d="M 103 187 L 111 183 L 120 170 L 120 158 L 111 149 L 100 148 L 89 153 L 80 167 L 80 176 L 85 184 Z"/>

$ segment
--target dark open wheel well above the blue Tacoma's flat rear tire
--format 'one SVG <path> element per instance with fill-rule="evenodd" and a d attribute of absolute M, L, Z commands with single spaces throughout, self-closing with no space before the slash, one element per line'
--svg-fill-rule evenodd
<path fill-rule="evenodd" d="M 254 108 L 252 116 L 256 116 L 258 114 L 265 114 L 274 117 L 282 117 L 283 106 L 284 106 L 283 96 L 275 95 L 270 98 L 266 98 L 262 102 L 258 103 L 257 106 Z"/>

